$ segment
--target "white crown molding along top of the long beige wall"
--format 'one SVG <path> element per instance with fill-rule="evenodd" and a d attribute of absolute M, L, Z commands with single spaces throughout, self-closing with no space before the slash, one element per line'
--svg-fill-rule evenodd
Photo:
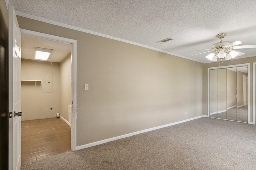
<path fill-rule="evenodd" d="M 72 26 L 72 25 L 68 25 L 68 24 L 64 24 L 64 23 L 60 23 L 60 22 L 44 19 L 44 18 L 33 16 L 33 15 L 30 15 L 30 14 L 25 14 L 23 12 L 16 11 L 16 15 L 22 16 L 22 17 L 25 17 L 25 18 L 29 18 L 29 19 L 32 19 L 32 20 L 37 20 L 37 21 L 42 21 L 42 22 L 45 22 L 45 23 L 50 23 L 52 25 L 58 25 L 60 27 L 74 29 L 76 31 L 90 33 L 90 34 L 93 34 L 93 35 L 98 35 L 100 37 L 105 37 L 105 38 L 114 39 L 114 40 L 117 40 L 117 41 L 122 41 L 124 43 L 129 43 L 129 44 L 137 45 L 137 46 L 144 47 L 144 48 L 147 48 L 147 49 L 152 49 L 152 50 L 159 51 L 159 52 L 162 52 L 162 53 L 166 53 L 166 54 L 174 55 L 174 56 L 181 57 L 181 58 L 184 58 L 184 59 L 188 59 L 188 60 L 192 60 L 192 61 L 197 61 L 199 63 L 203 63 L 202 61 L 199 61 L 199 60 L 196 60 L 196 59 L 192 59 L 190 57 L 185 57 L 185 56 L 182 56 L 182 55 L 174 54 L 174 53 L 171 53 L 171 52 L 168 52 L 168 51 L 164 51 L 164 50 L 161 50 L 161 49 L 157 49 L 157 48 L 154 48 L 154 47 L 143 45 L 143 44 L 140 44 L 140 43 L 135 43 L 135 42 L 128 41 L 128 40 L 125 40 L 125 39 L 120 39 L 120 38 L 117 38 L 117 37 L 112 37 L 110 35 L 94 32 L 94 31 L 90 31 L 88 29 L 82 29 L 82 28 L 75 27 L 75 26 Z"/>

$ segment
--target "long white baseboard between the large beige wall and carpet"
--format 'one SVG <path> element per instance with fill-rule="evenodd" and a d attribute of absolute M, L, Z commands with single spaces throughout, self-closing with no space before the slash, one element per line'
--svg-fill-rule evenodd
<path fill-rule="evenodd" d="M 81 145 L 81 146 L 76 147 L 76 150 L 80 150 L 80 149 L 85 149 L 85 148 L 93 147 L 93 146 L 96 146 L 96 145 L 100 145 L 100 144 L 103 144 L 103 143 L 107 143 L 107 142 L 115 141 L 115 140 L 118 140 L 118 139 L 130 137 L 130 136 L 132 136 L 132 135 L 138 135 L 138 134 L 140 134 L 140 133 L 144 133 L 144 132 L 148 132 L 148 131 L 154 131 L 154 130 L 156 130 L 156 129 L 161 129 L 161 128 L 163 128 L 163 127 L 168 127 L 168 126 L 176 125 L 176 124 L 179 124 L 179 123 L 184 123 L 184 122 L 186 122 L 186 121 L 191 121 L 191 120 L 194 120 L 194 119 L 199 119 L 199 118 L 201 118 L 201 117 L 207 117 L 207 115 L 202 115 L 202 116 L 198 116 L 198 117 L 193 117 L 193 118 L 190 118 L 190 119 L 186 119 L 186 120 L 182 120 L 182 121 L 178 121 L 178 122 L 174 122 L 174 123 L 169 123 L 169 124 L 162 125 L 162 126 L 158 126 L 158 127 L 152 127 L 152 128 L 145 129 L 145 130 L 142 130 L 142 131 L 137 131 L 137 132 L 133 132 L 133 133 L 128 133 L 128 134 L 126 134 L 126 135 L 121 135 L 121 136 L 112 137 L 112 138 L 109 138 L 109 139 L 104 139 L 104 140 L 102 140 L 102 141 L 97 141 L 97 142 L 93 142 L 93 143 L 88 143 L 88 144 L 86 144 L 86 145 Z"/>

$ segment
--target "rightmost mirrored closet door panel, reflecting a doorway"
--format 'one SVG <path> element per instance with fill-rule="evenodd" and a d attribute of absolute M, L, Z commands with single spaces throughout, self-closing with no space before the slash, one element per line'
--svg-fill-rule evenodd
<path fill-rule="evenodd" d="M 237 121 L 248 122 L 248 67 L 237 67 Z"/>

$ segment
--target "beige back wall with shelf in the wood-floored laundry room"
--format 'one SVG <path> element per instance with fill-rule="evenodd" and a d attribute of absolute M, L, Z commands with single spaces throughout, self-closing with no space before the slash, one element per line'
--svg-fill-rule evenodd
<path fill-rule="evenodd" d="M 55 117 L 60 111 L 60 63 L 21 60 L 21 80 L 41 80 L 41 72 L 53 73 L 53 92 L 42 93 L 41 83 L 21 82 L 22 121 Z M 52 107 L 52 110 L 50 110 Z"/>

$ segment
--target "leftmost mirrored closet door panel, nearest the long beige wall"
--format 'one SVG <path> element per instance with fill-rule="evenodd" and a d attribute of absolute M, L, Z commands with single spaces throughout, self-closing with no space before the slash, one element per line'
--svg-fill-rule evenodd
<path fill-rule="evenodd" d="M 209 70 L 210 117 L 218 117 L 218 70 Z"/>

